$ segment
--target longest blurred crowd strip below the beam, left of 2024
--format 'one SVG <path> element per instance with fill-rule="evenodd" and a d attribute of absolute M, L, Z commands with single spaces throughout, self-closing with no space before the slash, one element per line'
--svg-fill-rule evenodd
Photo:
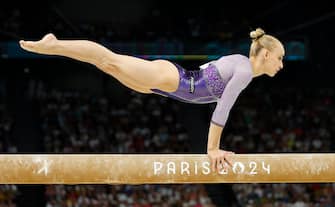
<path fill-rule="evenodd" d="M 214 207 L 202 185 L 47 186 L 47 207 Z"/>

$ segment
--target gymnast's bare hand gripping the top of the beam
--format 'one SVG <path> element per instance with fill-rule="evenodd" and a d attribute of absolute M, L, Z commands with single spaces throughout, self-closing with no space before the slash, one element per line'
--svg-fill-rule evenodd
<path fill-rule="evenodd" d="M 228 166 L 232 167 L 230 156 L 235 154 L 234 152 L 224 151 L 220 149 L 208 150 L 208 157 L 211 161 L 212 171 L 221 171 L 222 169 L 227 170 Z"/>

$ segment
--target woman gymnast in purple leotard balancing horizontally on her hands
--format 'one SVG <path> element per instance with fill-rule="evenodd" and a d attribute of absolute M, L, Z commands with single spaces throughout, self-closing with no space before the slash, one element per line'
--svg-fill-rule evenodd
<path fill-rule="evenodd" d="M 227 55 L 193 71 L 167 60 L 148 61 L 116 54 L 88 40 L 59 40 L 53 34 L 39 41 L 21 40 L 20 46 L 34 53 L 65 56 L 93 64 L 137 92 L 194 104 L 217 102 L 207 145 L 212 170 L 216 171 L 232 165 L 233 152 L 221 150 L 220 139 L 237 97 L 253 77 L 263 74 L 273 77 L 283 68 L 285 51 L 277 38 L 265 34 L 261 28 L 250 32 L 250 38 L 249 57 Z"/>

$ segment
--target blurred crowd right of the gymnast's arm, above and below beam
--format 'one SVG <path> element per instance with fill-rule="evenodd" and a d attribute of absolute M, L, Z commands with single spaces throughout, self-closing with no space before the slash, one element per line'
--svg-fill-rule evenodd
<path fill-rule="evenodd" d="M 231 116 L 224 146 L 238 153 L 334 151 L 334 89 L 249 90 Z M 262 94 L 262 95 L 260 95 Z M 235 184 L 243 206 L 330 207 L 335 185 Z"/>

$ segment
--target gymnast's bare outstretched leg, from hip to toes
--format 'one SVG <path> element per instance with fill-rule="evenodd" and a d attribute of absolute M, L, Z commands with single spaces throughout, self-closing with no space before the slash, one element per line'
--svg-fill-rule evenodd
<path fill-rule="evenodd" d="M 178 87 L 178 70 L 166 60 L 148 61 L 120 55 L 92 41 L 59 40 L 53 34 L 47 34 L 39 41 L 21 40 L 20 45 L 30 52 L 65 56 L 91 63 L 139 92 L 150 93 L 152 88 L 172 92 Z"/>

